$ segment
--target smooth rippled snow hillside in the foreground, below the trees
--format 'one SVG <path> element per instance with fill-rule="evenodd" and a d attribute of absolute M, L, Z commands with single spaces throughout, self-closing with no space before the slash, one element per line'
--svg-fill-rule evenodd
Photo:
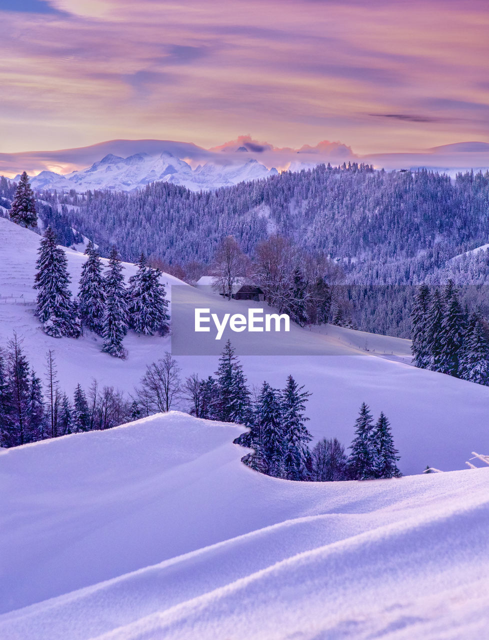
<path fill-rule="evenodd" d="M 0 637 L 485 637 L 488 468 L 291 482 L 239 431 L 171 412 L 1 452 Z"/>

